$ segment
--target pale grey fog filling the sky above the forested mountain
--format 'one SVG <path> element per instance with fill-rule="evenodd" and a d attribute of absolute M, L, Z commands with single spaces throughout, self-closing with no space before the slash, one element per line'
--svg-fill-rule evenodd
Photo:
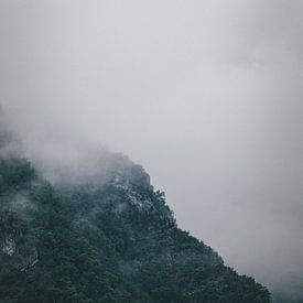
<path fill-rule="evenodd" d="M 0 104 L 31 160 L 128 154 L 182 228 L 299 302 L 302 20 L 300 0 L 0 0 Z"/>

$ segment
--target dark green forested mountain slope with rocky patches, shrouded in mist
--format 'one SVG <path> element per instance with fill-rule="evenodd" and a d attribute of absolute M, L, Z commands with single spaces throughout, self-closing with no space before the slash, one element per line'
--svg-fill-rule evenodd
<path fill-rule="evenodd" d="M 89 180 L 53 186 L 0 159 L 0 302 L 270 302 L 177 228 L 142 166 L 107 156 Z"/>

